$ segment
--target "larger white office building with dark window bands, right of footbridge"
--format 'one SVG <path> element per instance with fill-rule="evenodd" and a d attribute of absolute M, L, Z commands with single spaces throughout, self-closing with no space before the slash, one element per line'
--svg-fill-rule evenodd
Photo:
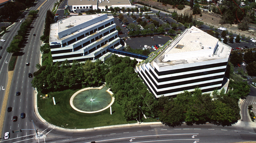
<path fill-rule="evenodd" d="M 157 98 L 196 87 L 208 93 L 227 87 L 224 74 L 230 51 L 231 47 L 193 26 L 157 50 L 159 54 L 142 62 L 136 71 Z"/>

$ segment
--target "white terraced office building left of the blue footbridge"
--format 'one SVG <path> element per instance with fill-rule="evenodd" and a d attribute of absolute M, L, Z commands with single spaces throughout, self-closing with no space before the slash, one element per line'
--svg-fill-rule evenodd
<path fill-rule="evenodd" d="M 84 62 L 101 59 L 108 48 L 121 48 L 114 17 L 107 14 L 72 16 L 50 26 L 50 49 L 53 63 L 68 59 Z"/>

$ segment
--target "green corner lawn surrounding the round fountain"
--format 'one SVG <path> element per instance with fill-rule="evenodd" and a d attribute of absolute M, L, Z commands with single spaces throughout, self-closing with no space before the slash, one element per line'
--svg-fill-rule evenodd
<path fill-rule="evenodd" d="M 122 108 L 116 102 L 111 106 L 112 115 L 110 115 L 109 108 L 93 114 L 81 113 L 74 110 L 70 106 L 69 100 L 78 90 L 68 89 L 55 93 L 48 93 L 49 98 L 47 99 L 42 99 L 40 95 L 43 94 L 39 91 L 37 95 L 37 106 L 40 115 L 53 125 L 69 129 L 85 129 L 99 126 L 137 123 L 136 121 L 127 122 L 122 116 Z M 53 105 L 52 97 L 55 98 L 56 105 Z"/>

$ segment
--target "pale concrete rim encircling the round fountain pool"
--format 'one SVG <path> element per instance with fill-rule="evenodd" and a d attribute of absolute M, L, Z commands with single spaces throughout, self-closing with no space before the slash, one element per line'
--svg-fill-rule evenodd
<path fill-rule="evenodd" d="M 77 91 L 75 94 L 72 95 L 72 97 L 71 97 L 70 100 L 69 100 L 69 103 L 70 103 L 71 107 L 72 107 L 73 109 L 75 109 L 76 111 L 82 112 L 82 113 L 97 113 L 97 112 L 101 112 L 101 111 L 104 111 L 105 109 L 109 108 L 109 107 L 114 103 L 114 101 L 115 101 L 115 98 L 112 96 L 113 93 L 110 91 L 110 88 L 108 88 L 108 90 L 106 90 L 106 92 L 108 92 L 108 93 L 111 95 L 112 100 L 111 100 L 110 104 L 109 104 L 107 107 L 105 107 L 105 108 L 103 108 L 103 109 L 101 109 L 101 110 L 98 110 L 98 111 L 91 111 L 91 112 L 82 111 L 82 110 L 79 110 L 78 108 L 76 108 L 76 107 L 74 106 L 74 104 L 73 104 L 73 100 L 74 100 L 74 98 L 76 97 L 76 95 L 79 94 L 79 93 L 81 93 L 82 91 L 89 90 L 89 89 L 99 89 L 99 90 L 101 90 L 104 86 L 105 86 L 105 85 L 103 84 L 101 87 L 87 87 L 87 88 L 83 88 L 83 89 Z"/>

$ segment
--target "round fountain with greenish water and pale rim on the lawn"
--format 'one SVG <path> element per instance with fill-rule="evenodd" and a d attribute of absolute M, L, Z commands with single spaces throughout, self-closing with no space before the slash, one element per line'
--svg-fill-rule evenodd
<path fill-rule="evenodd" d="M 84 88 L 72 95 L 70 105 L 79 112 L 96 113 L 113 104 L 114 98 L 111 95 L 112 92 L 105 86 Z"/>

